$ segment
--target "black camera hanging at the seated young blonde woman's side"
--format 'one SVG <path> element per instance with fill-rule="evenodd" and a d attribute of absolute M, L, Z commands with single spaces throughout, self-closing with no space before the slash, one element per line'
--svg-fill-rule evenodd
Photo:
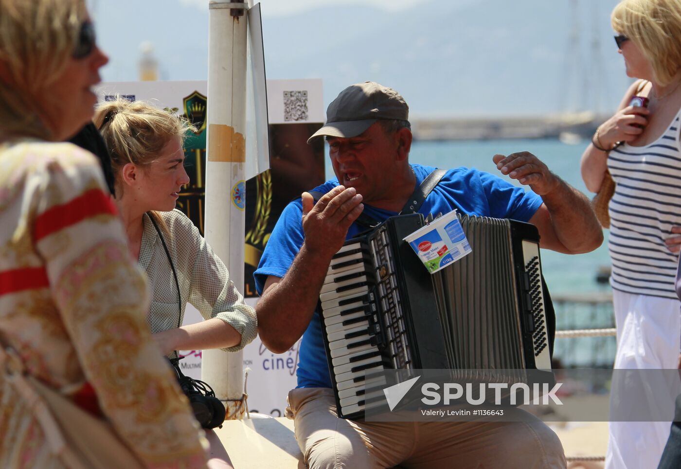
<path fill-rule="evenodd" d="M 215 397 L 212 387 L 204 381 L 185 376 L 178 364 L 180 358 L 171 358 L 168 361 L 175 370 L 180 389 L 189 399 L 195 419 L 206 429 L 222 427 L 227 411 L 223 403 Z"/>

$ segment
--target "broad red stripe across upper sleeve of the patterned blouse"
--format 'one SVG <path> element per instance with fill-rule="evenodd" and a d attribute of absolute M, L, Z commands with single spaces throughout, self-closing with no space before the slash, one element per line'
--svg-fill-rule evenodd
<path fill-rule="evenodd" d="M 54 206 L 35 219 L 35 242 L 80 221 L 101 214 L 116 214 L 116 206 L 101 189 L 90 189 L 66 204 Z"/>

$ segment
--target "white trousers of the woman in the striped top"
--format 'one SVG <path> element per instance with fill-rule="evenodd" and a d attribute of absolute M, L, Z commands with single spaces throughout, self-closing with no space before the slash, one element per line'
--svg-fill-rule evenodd
<path fill-rule="evenodd" d="M 613 291 L 617 325 L 614 368 L 674 369 L 678 365 L 681 303 Z M 669 438 L 671 422 L 610 422 L 606 469 L 654 469 Z"/>

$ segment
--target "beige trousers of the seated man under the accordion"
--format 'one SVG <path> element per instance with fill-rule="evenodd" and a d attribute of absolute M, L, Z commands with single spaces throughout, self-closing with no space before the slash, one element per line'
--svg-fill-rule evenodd
<path fill-rule="evenodd" d="M 521 422 L 362 422 L 339 419 L 333 391 L 289 392 L 305 464 L 313 469 L 565 468 L 558 436 L 522 410 Z"/>

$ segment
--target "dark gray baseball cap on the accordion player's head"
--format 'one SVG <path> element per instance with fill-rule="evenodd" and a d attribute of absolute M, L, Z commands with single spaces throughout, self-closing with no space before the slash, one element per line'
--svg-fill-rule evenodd
<path fill-rule="evenodd" d="M 357 83 L 340 92 L 326 108 L 326 125 L 307 140 L 329 135 L 360 135 L 378 119 L 409 120 L 409 106 L 400 93 L 376 82 Z"/>

